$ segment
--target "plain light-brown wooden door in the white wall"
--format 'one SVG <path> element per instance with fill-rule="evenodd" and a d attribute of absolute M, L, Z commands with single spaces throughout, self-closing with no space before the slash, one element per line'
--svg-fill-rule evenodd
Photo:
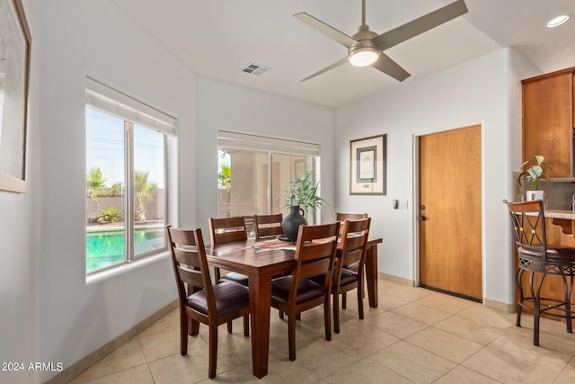
<path fill-rule="evenodd" d="M 419 139 L 420 285 L 482 299 L 481 126 Z"/>

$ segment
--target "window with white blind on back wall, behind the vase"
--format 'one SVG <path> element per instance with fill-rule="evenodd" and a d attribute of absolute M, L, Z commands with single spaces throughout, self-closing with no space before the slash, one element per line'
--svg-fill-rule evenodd
<path fill-rule="evenodd" d="M 289 182 L 311 170 L 317 172 L 317 144 L 264 138 L 220 130 L 219 217 L 289 212 L 284 208 Z M 317 221 L 313 212 L 305 217 Z"/>

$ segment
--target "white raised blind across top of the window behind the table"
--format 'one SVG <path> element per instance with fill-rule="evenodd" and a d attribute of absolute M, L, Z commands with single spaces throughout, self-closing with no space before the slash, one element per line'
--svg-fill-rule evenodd
<path fill-rule="evenodd" d="M 248 135 L 244 133 L 218 130 L 219 147 L 250 149 L 284 153 L 289 155 L 319 156 L 319 144 L 305 143 L 303 141 L 287 140 L 283 138 L 267 138 L 264 136 Z"/>

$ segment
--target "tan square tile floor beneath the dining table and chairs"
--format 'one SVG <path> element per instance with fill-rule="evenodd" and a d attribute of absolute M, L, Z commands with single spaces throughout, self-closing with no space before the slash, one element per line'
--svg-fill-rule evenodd
<path fill-rule="evenodd" d="M 354 293 L 354 292 L 352 292 Z M 250 339 L 241 320 L 234 333 L 219 328 L 215 381 L 244 383 L 573 383 L 575 335 L 562 323 L 542 319 L 541 346 L 533 317 L 515 315 L 431 290 L 380 280 L 379 307 L 358 319 L 348 296 L 341 334 L 323 338 L 323 309 L 302 315 L 296 329 L 296 362 L 288 359 L 288 326 L 272 311 L 270 369 L 252 376 Z M 189 337 L 180 355 L 178 311 L 137 335 L 73 383 L 198 383 L 208 380 L 206 326 Z"/>

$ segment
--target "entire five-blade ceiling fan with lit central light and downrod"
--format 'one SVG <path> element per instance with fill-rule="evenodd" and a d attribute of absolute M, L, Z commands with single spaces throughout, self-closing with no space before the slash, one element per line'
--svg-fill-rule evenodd
<path fill-rule="evenodd" d="M 311 76 L 307 76 L 300 81 L 309 80 L 312 77 L 323 74 L 335 67 L 339 67 L 346 61 L 356 67 L 374 67 L 388 76 L 394 77 L 398 81 L 403 81 L 411 76 L 403 67 L 397 64 L 392 58 L 385 55 L 385 49 L 390 49 L 395 45 L 409 40 L 414 36 L 419 35 L 425 31 L 429 31 L 438 25 L 455 19 L 462 14 L 467 13 L 467 6 L 464 0 L 457 0 L 454 3 L 448 4 L 436 11 L 425 14 L 418 19 L 407 22 L 391 31 L 386 31 L 377 35 L 374 31 L 369 31 L 366 24 L 366 0 L 361 1 L 361 25 L 358 32 L 352 37 L 345 33 L 336 30 L 331 25 L 322 22 L 308 13 L 296 13 L 296 19 L 305 22 L 307 25 L 322 32 L 327 37 L 336 40 L 341 45 L 348 49 L 348 56 L 341 58 L 332 65 L 324 67 L 323 69 L 315 72 Z"/>

